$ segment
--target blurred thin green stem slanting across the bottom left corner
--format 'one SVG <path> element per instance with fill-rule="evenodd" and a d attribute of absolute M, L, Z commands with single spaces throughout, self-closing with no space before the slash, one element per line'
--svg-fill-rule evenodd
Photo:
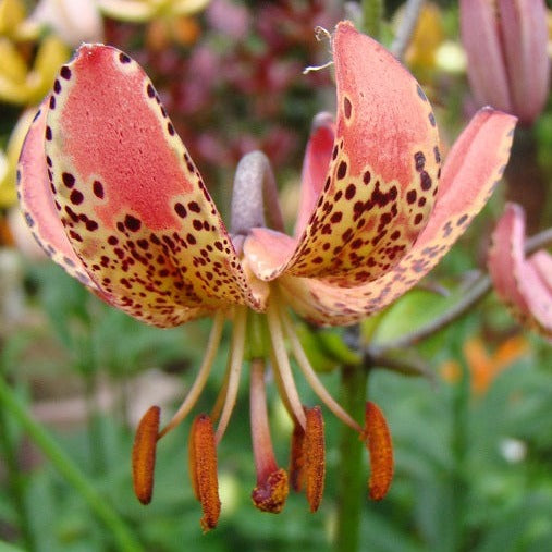
<path fill-rule="evenodd" d="M 0 377 L 0 403 L 28 433 L 33 442 L 42 451 L 56 469 L 83 496 L 99 519 L 111 530 L 119 550 L 124 552 L 143 552 L 144 549 L 125 525 L 123 519 L 107 500 L 90 484 L 77 465 L 63 452 L 52 437 L 27 413 L 10 389 L 3 377 Z"/>

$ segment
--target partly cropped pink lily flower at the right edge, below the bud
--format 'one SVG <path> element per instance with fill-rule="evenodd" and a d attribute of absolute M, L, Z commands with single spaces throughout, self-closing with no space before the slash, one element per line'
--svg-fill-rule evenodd
<path fill-rule="evenodd" d="M 514 317 L 552 340 L 552 256 L 540 249 L 525 257 L 525 212 L 507 204 L 489 248 L 489 274 Z"/>

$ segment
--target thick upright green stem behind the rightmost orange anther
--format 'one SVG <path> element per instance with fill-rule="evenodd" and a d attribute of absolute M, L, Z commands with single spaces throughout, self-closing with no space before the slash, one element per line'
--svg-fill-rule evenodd
<path fill-rule="evenodd" d="M 364 419 L 368 371 L 365 366 L 344 366 L 341 372 L 341 405 L 355 419 Z M 363 452 L 364 444 L 358 439 L 358 433 L 343 425 L 340 442 L 335 552 L 359 550 L 360 514 L 363 499 L 366 495 Z"/>

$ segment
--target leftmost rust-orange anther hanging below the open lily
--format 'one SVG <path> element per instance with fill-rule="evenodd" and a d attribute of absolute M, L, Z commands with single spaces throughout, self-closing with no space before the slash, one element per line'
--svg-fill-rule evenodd
<path fill-rule="evenodd" d="M 132 449 L 132 479 L 134 493 L 143 504 L 149 504 L 154 494 L 157 434 L 161 409 L 151 406 L 142 417 Z"/>

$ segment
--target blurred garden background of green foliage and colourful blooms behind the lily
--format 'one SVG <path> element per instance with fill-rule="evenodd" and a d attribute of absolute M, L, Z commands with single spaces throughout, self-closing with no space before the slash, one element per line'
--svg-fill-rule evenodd
<path fill-rule="evenodd" d="M 312 29 L 332 28 L 344 15 L 355 16 L 358 7 L 338 0 L 213 0 L 180 13 L 170 7 L 151 11 L 136 22 L 123 21 L 107 8 L 101 13 L 91 1 L 78 17 L 71 10 L 61 10 L 60 15 L 56 3 L 41 1 L 37 10 L 32 1 L 0 1 L 3 377 L 145 550 L 330 550 L 340 475 L 339 424 L 327 417 L 327 491 L 319 513 L 309 514 L 304 496 L 294 494 L 279 516 L 259 513 L 249 496 L 255 476 L 244 385 L 219 449 L 223 507 L 217 530 L 203 536 L 199 528 L 199 507 L 186 468 L 188 424 L 163 440 L 152 504 L 144 507 L 136 501 L 130 474 L 133 429 L 150 404 L 172 412 L 182 400 L 203 356 L 209 322 L 174 330 L 145 327 L 101 304 L 45 261 L 13 207 L 14 167 L 24 135 L 14 128 L 19 121 L 28 124 L 26 110 L 33 112 L 76 44 L 105 40 L 145 66 L 218 205 L 228 205 L 241 156 L 262 149 L 273 163 L 292 222 L 310 121 L 320 110 L 332 111 L 334 101 L 329 71 L 302 75 L 305 66 L 329 59 L 328 45 L 317 42 Z M 401 4 L 385 2 L 388 44 Z M 436 106 L 446 149 L 473 111 L 457 3 L 428 2 L 420 25 L 405 63 Z M 489 234 L 512 186 L 523 186 L 526 195 L 539 187 L 542 200 L 529 216 L 533 230 L 550 226 L 550 101 L 523 133 L 533 140 L 535 155 L 527 163 L 537 165 L 538 182 L 501 187 L 431 274 L 427 289 L 391 306 L 377 324 L 367 321 L 363 335 L 375 349 L 438 317 L 466 293 L 474 274 L 484 268 Z M 450 293 L 443 296 L 436 289 Z M 348 348 L 347 332 L 305 327 L 304 340 L 316 367 L 327 372 L 324 383 L 336 392 L 335 367 L 359 355 Z M 224 348 L 198 412 L 216 400 Z M 402 354 L 421 367 L 407 373 L 413 377 L 405 377 L 401 361 L 395 370 L 372 368 L 370 396 L 385 405 L 396 476 L 384 501 L 363 499 L 361 549 L 552 550 L 550 345 L 520 328 L 490 294 L 454 324 L 419 343 L 416 353 Z M 307 404 L 315 402 L 307 385 L 299 392 Z M 274 443 L 285 465 L 292 427 L 274 396 L 270 403 Z M 5 409 L 0 410 L 0 456 L 3 541 L 36 551 L 116 549 L 83 496 L 45 462 Z"/>

